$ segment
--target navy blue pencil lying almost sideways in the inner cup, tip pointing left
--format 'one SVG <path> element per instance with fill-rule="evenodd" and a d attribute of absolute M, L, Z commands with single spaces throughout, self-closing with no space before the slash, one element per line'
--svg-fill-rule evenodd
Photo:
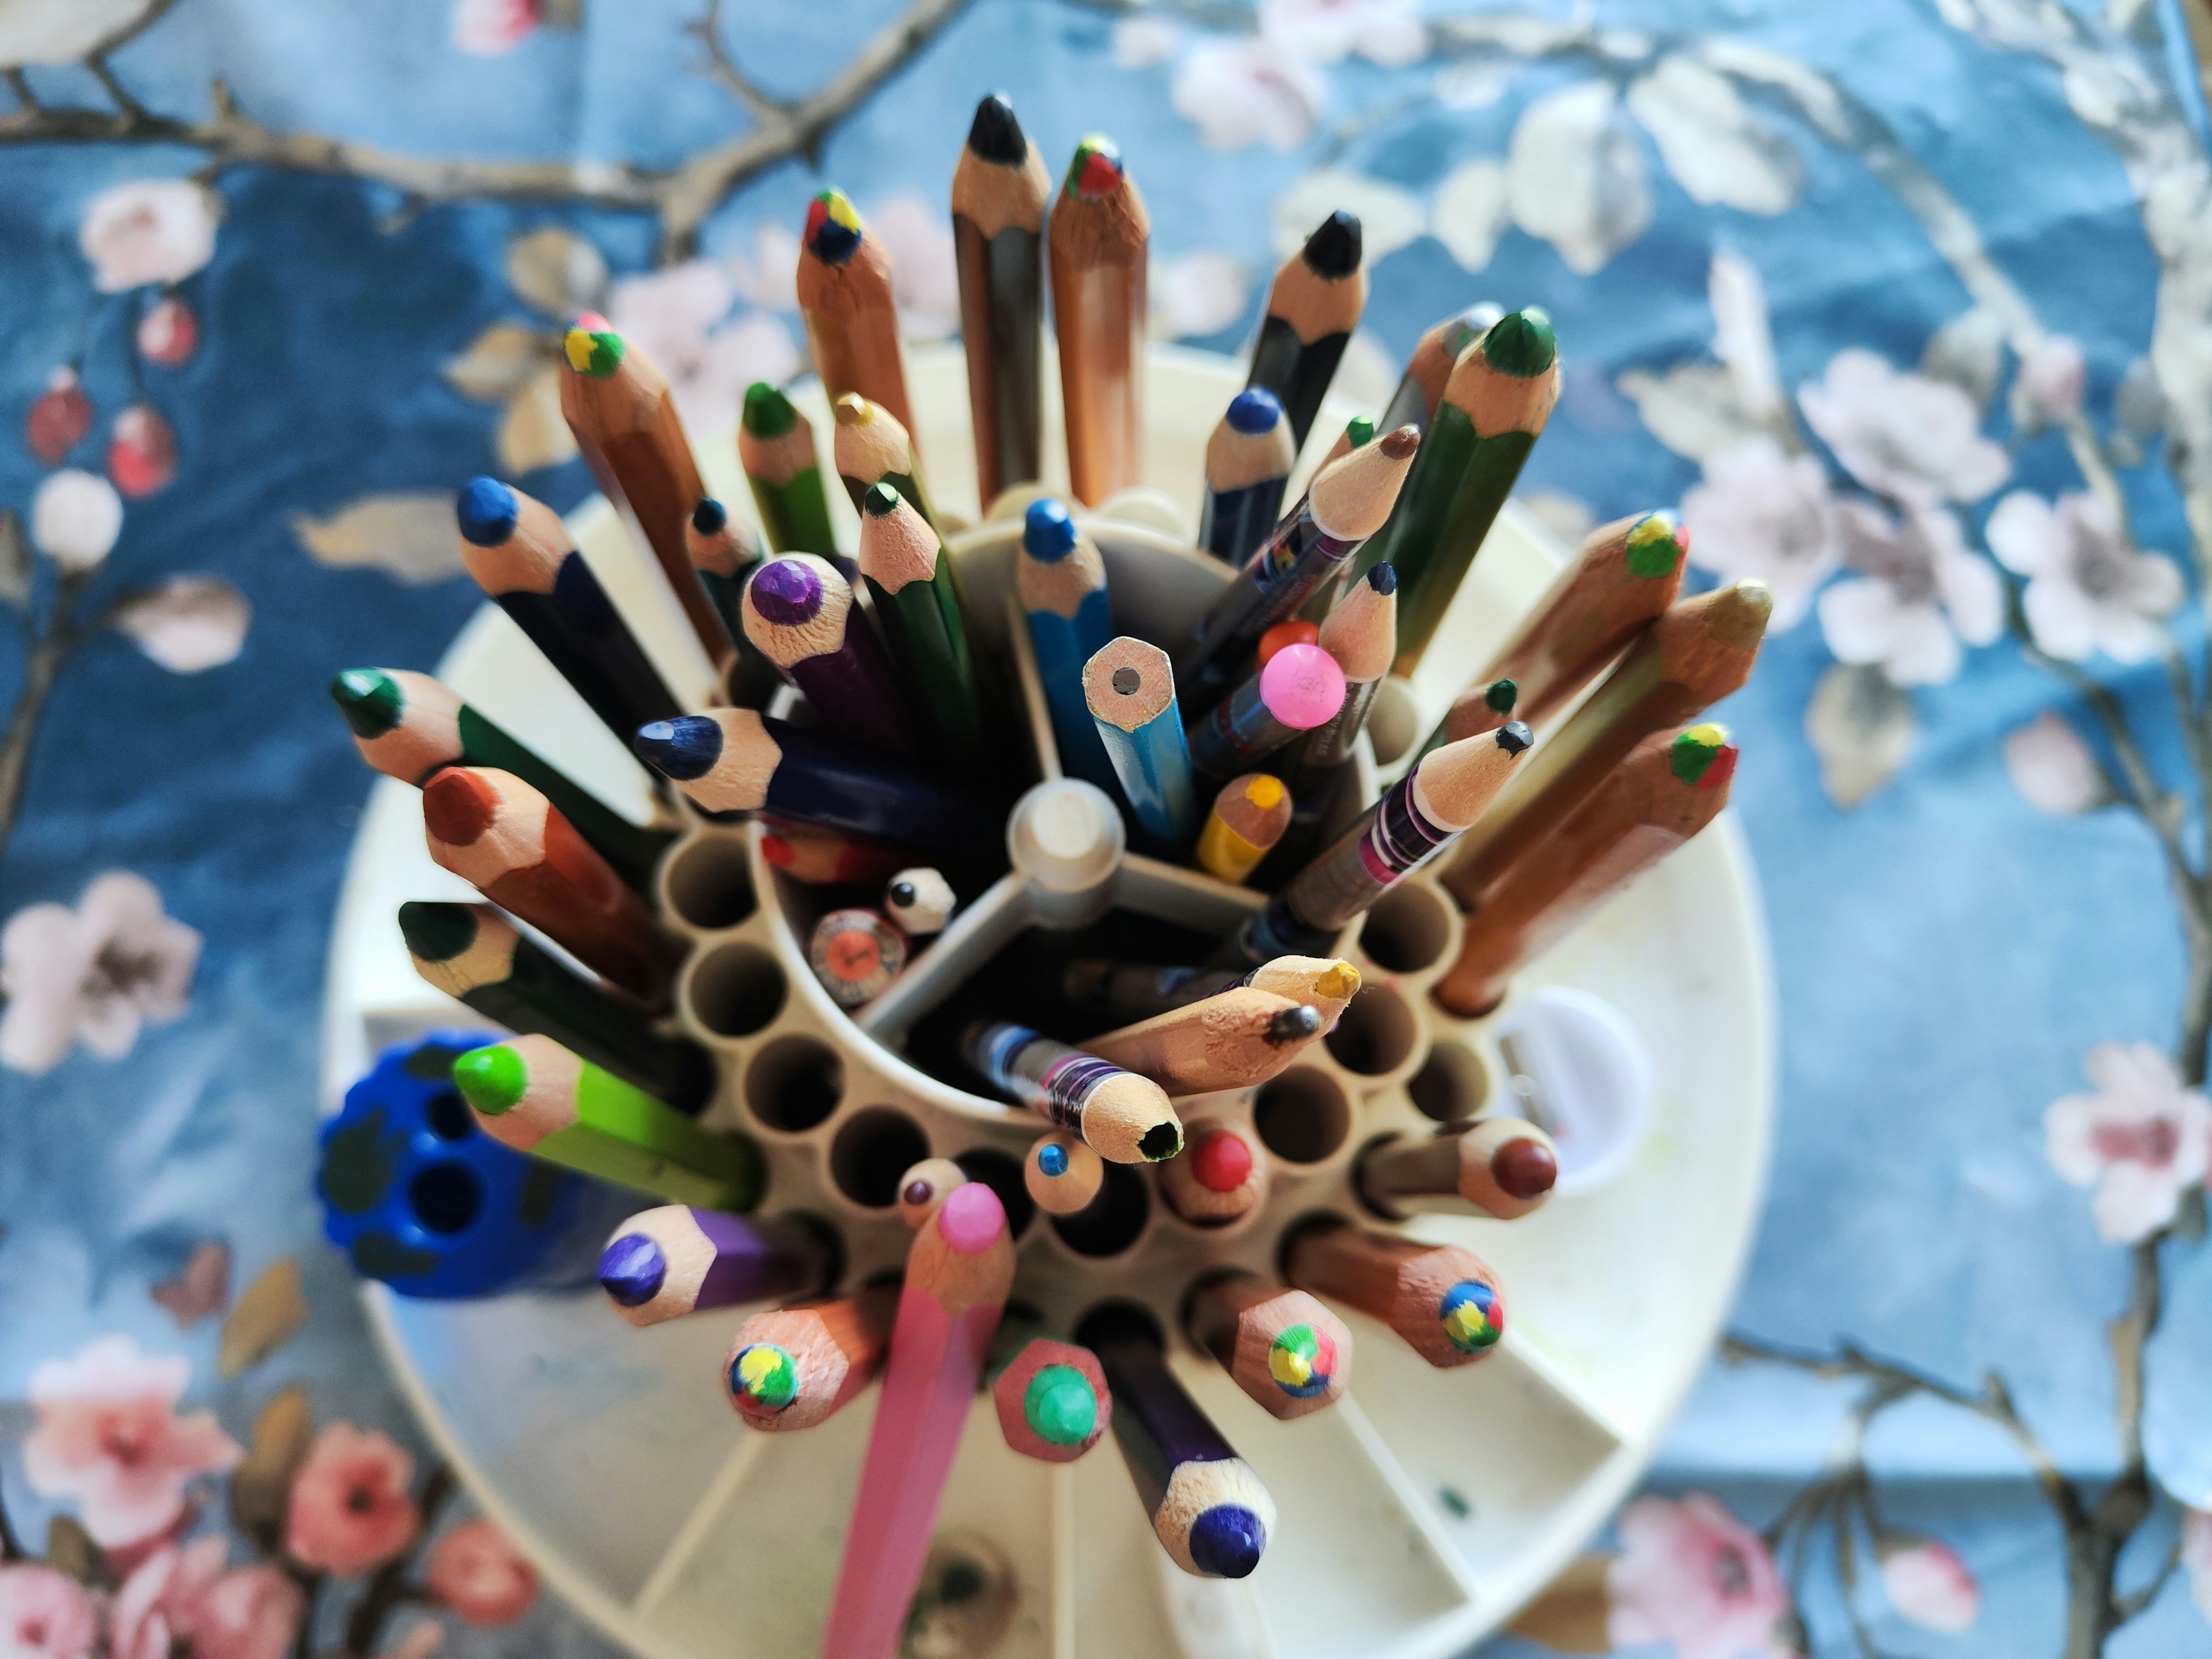
<path fill-rule="evenodd" d="M 708 814 L 770 812 L 931 852 L 993 845 L 993 803 L 947 787 L 827 732 L 717 708 L 641 726 L 637 754 Z"/>

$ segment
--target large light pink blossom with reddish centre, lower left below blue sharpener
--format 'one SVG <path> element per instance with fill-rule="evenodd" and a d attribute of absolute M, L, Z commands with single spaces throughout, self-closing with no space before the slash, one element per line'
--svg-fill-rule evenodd
<path fill-rule="evenodd" d="M 243 1455 L 212 1411 L 177 1416 L 190 1374 L 181 1354 L 142 1354 L 128 1336 L 95 1336 L 73 1358 L 42 1360 L 31 1371 L 38 1429 L 22 1442 L 31 1491 L 75 1498 L 102 1548 L 170 1526 L 184 1513 L 184 1482 Z"/>

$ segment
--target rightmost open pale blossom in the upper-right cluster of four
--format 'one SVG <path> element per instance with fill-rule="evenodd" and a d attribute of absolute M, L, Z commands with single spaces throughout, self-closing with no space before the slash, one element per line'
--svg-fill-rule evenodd
<path fill-rule="evenodd" d="M 2059 495 L 2057 504 L 2015 489 L 1989 515 L 1989 551 L 2028 577 L 2022 611 L 2035 644 L 2062 661 L 2099 650 L 2137 664 L 2159 653 L 2157 617 L 2183 599 L 2181 566 L 2163 553 L 2137 553 L 2119 513 L 2101 495 Z"/>

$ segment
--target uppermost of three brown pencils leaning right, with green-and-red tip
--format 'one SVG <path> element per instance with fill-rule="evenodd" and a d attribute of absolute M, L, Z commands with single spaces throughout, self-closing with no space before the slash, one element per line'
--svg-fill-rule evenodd
<path fill-rule="evenodd" d="M 1641 513 L 1590 531 L 1504 650 L 1460 692 L 1444 732 L 1467 734 L 1460 726 L 1480 712 L 1469 708 L 1462 721 L 1460 703 L 1480 703 L 1493 679 L 1520 686 L 1520 717 L 1528 726 L 1566 708 L 1674 604 L 1688 551 L 1690 533 L 1672 513 Z"/>

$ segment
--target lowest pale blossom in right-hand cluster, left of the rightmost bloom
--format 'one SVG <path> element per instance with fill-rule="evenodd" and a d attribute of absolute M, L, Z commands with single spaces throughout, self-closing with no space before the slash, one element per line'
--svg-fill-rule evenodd
<path fill-rule="evenodd" d="M 1891 686 L 1942 686 L 1958 677 L 1960 641 L 1986 646 L 2004 628 L 1997 571 L 1966 551 L 1949 511 L 1896 520 L 1869 502 L 1838 502 L 1836 518 L 1856 575 L 1823 593 L 1818 613 L 1840 661 L 1880 664 Z"/>

